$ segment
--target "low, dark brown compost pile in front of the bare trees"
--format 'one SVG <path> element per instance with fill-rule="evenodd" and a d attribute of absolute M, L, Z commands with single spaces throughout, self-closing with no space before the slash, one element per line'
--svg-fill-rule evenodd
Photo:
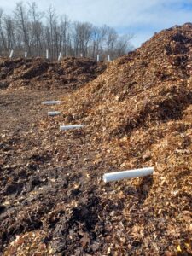
<path fill-rule="evenodd" d="M 62 61 L 43 59 L 15 59 L 0 62 L 0 88 L 54 90 L 76 89 L 101 74 L 106 68 L 102 62 L 86 58 L 67 57 Z"/>

